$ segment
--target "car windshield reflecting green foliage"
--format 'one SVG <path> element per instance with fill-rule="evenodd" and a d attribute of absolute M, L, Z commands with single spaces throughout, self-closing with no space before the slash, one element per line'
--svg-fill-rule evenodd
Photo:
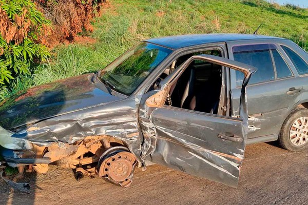
<path fill-rule="evenodd" d="M 112 90 L 130 95 L 172 50 L 142 42 L 101 71 L 101 81 Z"/>

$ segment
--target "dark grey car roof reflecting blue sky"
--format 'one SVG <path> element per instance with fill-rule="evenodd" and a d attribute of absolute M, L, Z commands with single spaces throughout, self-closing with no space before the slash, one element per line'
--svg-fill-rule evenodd
<path fill-rule="evenodd" d="M 158 44 L 171 49 L 179 49 L 188 46 L 197 46 L 201 44 L 229 42 L 234 40 L 253 40 L 253 39 L 285 39 L 274 36 L 254 35 L 254 34 L 235 34 L 235 33 L 218 33 L 218 34 L 188 34 L 165 36 L 160 38 L 151 38 L 145 42 Z"/>

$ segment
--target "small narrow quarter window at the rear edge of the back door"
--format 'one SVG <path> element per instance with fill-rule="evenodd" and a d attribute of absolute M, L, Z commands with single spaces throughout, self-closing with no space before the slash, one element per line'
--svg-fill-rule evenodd
<path fill-rule="evenodd" d="M 273 49 L 273 58 L 275 62 L 276 72 L 277 72 L 277 78 L 284 78 L 284 77 L 290 77 L 292 76 L 292 72 L 290 71 L 290 68 L 285 63 L 284 59 L 281 57 L 278 50 Z"/>

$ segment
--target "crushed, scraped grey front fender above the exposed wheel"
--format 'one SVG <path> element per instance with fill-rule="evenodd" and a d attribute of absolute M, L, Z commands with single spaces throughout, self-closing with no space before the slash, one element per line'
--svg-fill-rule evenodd
<path fill-rule="evenodd" d="M 108 135 L 122 140 L 140 161 L 140 134 L 135 98 L 87 108 L 52 117 L 24 129 L 11 138 L 22 138 L 37 146 L 51 146 L 56 142 L 73 144 L 87 136 Z"/>

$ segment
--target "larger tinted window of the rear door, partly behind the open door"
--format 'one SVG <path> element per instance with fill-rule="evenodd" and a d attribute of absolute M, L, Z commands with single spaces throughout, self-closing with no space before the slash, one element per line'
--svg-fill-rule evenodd
<path fill-rule="evenodd" d="M 249 84 L 257 84 L 275 79 L 274 65 L 271 52 L 269 51 L 272 48 L 270 45 L 260 44 L 233 47 L 234 60 L 252 65 L 258 69 L 251 80 L 249 80 Z M 242 85 L 243 79 L 244 74 L 237 71 L 237 86 Z"/>

